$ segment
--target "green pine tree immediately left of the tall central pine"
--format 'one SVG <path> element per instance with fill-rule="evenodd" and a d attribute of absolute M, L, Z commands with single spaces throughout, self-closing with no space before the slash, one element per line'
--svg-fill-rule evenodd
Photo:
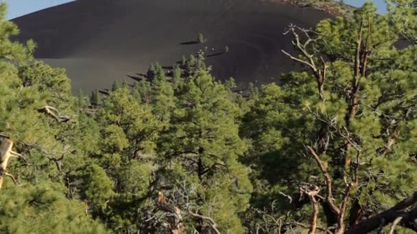
<path fill-rule="evenodd" d="M 95 216 L 111 220 L 112 229 L 123 226 L 136 232 L 138 209 L 149 202 L 149 175 L 162 125 L 149 105 L 141 105 L 123 88 L 110 93 L 95 118 L 99 151 L 82 169 L 81 195 Z"/>

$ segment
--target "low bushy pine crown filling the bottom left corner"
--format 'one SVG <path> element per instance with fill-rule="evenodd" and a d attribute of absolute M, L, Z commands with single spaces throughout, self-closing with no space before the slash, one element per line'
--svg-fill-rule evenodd
<path fill-rule="evenodd" d="M 0 196 L 1 233 L 108 233 L 86 216 L 86 205 L 50 184 L 11 187 Z"/>

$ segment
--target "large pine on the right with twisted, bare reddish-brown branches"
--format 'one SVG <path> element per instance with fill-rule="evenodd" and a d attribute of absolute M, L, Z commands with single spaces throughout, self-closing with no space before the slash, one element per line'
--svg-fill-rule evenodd
<path fill-rule="evenodd" d="M 353 18 L 321 21 L 315 31 L 291 27 L 300 56 L 285 52 L 310 73 L 290 73 L 282 88 L 264 86 L 246 115 L 243 134 L 253 148 L 245 161 L 257 168 L 260 193 L 254 201 L 267 196 L 263 205 L 270 207 L 279 198 L 273 216 L 289 212 L 310 233 L 318 224 L 334 226 L 333 233 L 368 233 L 394 221 L 369 216 L 411 196 L 417 185 L 409 127 L 417 74 L 406 65 L 416 61 L 415 47 L 392 47 L 399 31 L 372 3 Z"/>

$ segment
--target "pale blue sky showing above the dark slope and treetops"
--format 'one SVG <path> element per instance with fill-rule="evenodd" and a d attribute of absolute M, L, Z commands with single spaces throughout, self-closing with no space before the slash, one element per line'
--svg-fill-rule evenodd
<path fill-rule="evenodd" d="M 5 0 L 8 3 L 8 18 L 16 18 L 18 16 L 23 16 L 24 14 L 29 14 L 31 12 L 36 12 L 37 10 L 42 10 L 49 8 L 53 5 L 59 5 L 62 3 L 67 3 L 72 0 Z M 137 0 L 139 1 L 139 0 Z M 175 0 L 172 0 L 175 1 Z M 385 12 L 385 2 L 383 0 L 373 0 L 374 3 L 379 8 L 379 12 Z M 349 5 L 360 6 L 364 4 L 364 0 L 344 0 L 345 3 Z"/>

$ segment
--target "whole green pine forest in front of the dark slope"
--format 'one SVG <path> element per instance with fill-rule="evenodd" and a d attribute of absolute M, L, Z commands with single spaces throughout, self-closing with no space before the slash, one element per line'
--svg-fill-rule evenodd
<path fill-rule="evenodd" d="M 414 1 L 289 25 L 279 84 L 237 91 L 200 51 L 89 96 L 5 10 L 0 233 L 417 231 Z"/>

